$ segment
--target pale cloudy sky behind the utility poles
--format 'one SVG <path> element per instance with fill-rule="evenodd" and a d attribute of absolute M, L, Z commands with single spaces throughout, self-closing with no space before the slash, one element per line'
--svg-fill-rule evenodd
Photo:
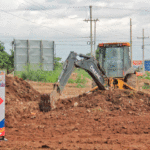
<path fill-rule="evenodd" d="M 90 9 L 96 22 L 96 45 L 130 42 L 132 20 L 133 60 L 142 60 L 142 30 L 150 36 L 148 0 L 1 0 L 0 41 L 10 53 L 14 39 L 55 41 L 56 57 L 64 61 L 70 51 L 87 54 Z M 94 36 L 94 22 L 93 36 Z M 93 39 L 94 40 L 94 39 Z M 150 38 L 145 38 L 145 59 L 150 59 Z M 93 45 L 94 49 L 94 45 Z"/>

